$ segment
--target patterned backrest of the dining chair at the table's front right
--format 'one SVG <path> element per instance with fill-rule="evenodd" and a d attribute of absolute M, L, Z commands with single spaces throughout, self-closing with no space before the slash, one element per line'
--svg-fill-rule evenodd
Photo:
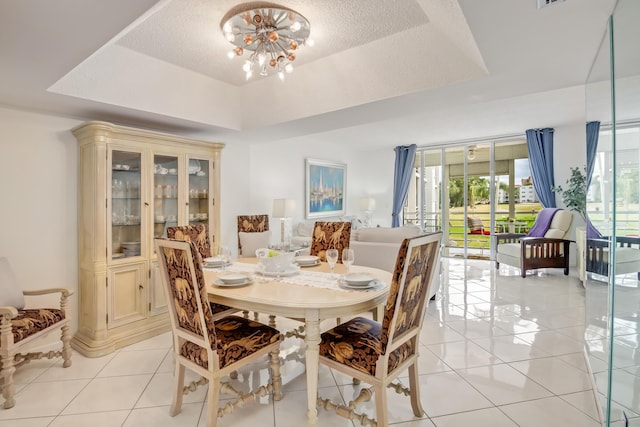
<path fill-rule="evenodd" d="M 382 321 L 380 342 L 383 354 L 412 338 L 415 345 L 411 351 L 416 350 L 427 295 L 433 278 L 438 274 L 441 241 L 442 232 L 439 231 L 402 242 Z"/>

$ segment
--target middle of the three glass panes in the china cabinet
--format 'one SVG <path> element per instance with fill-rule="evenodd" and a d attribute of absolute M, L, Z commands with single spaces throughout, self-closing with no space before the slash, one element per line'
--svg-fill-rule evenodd
<path fill-rule="evenodd" d="M 178 224 L 178 157 L 153 157 L 153 236 L 167 237 Z"/>

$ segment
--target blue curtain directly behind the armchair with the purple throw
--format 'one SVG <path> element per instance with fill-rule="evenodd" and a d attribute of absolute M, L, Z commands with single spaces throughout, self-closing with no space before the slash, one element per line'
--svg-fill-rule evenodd
<path fill-rule="evenodd" d="M 528 129 L 527 148 L 533 188 L 545 208 L 556 207 L 553 179 L 553 129 Z"/>

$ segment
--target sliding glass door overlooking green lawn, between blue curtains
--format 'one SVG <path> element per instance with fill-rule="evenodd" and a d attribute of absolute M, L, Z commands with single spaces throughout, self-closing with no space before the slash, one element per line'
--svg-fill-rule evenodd
<path fill-rule="evenodd" d="M 525 233 L 541 209 L 526 141 L 418 150 L 404 224 L 442 230 L 444 255 L 493 259 L 491 235 Z"/>

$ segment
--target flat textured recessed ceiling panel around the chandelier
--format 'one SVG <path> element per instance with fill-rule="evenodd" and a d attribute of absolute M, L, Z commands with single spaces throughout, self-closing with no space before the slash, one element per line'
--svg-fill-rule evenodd
<path fill-rule="evenodd" d="M 213 79 L 243 85 L 242 60 L 227 58 L 233 48 L 222 36 L 220 21 L 237 1 L 173 0 L 125 34 L 118 44 Z M 311 22 L 313 47 L 301 48 L 296 66 L 375 42 L 427 23 L 414 0 L 286 1 Z M 371 7 L 375 6 L 375 7 Z M 245 56 L 247 56 L 245 54 Z M 383 57 L 381 57 L 383 59 Z"/>

